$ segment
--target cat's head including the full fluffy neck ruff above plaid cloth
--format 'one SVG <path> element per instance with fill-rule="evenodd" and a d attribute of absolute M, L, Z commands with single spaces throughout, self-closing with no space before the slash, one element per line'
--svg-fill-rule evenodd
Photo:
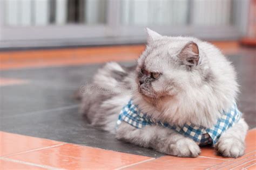
<path fill-rule="evenodd" d="M 143 112 L 178 125 L 210 127 L 238 93 L 231 62 L 208 42 L 167 37 L 147 29 L 138 59 L 134 103 Z"/>

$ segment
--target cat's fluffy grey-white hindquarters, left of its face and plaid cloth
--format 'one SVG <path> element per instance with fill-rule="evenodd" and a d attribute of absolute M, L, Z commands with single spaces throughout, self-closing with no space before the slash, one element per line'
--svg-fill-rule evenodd
<path fill-rule="evenodd" d="M 130 98 L 122 88 L 131 89 L 132 71 L 134 67 L 122 67 L 116 62 L 106 63 L 98 70 L 88 93 L 82 95 L 80 108 L 90 124 L 107 131 L 113 129 L 120 110 Z"/>

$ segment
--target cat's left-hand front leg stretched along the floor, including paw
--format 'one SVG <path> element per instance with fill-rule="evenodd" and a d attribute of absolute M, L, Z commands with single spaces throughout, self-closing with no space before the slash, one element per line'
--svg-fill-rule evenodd
<path fill-rule="evenodd" d="M 178 157 L 198 157 L 200 154 L 199 146 L 192 139 L 160 126 L 136 129 L 123 122 L 117 129 L 116 138 Z"/>

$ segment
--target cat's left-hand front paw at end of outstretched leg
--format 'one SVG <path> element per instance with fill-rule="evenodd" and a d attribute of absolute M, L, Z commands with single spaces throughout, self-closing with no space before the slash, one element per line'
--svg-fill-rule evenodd
<path fill-rule="evenodd" d="M 191 139 L 183 138 L 177 141 L 176 144 L 170 146 L 171 155 L 178 157 L 198 157 L 201 153 L 200 147 Z"/>

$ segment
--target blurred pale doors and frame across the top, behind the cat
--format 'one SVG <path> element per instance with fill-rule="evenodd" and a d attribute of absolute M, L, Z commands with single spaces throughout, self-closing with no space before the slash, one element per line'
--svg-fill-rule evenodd
<path fill-rule="evenodd" d="M 1 0 L 0 7 L 0 48 L 138 44 L 146 26 L 206 40 L 255 37 L 253 0 Z"/>

